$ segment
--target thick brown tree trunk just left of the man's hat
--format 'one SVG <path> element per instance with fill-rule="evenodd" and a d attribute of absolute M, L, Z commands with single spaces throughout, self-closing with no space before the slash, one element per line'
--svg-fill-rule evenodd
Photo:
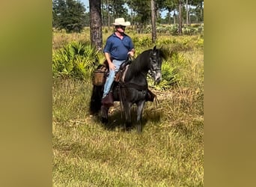
<path fill-rule="evenodd" d="M 102 18 L 101 18 L 101 1 L 90 0 L 90 34 L 91 46 L 96 47 L 97 50 L 103 49 L 103 32 L 102 32 Z"/>

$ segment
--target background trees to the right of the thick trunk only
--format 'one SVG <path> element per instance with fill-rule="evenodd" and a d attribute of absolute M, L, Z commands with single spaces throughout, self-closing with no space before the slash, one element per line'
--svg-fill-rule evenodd
<path fill-rule="evenodd" d="M 175 24 L 178 22 L 179 5 L 182 9 L 182 19 L 186 22 L 186 13 L 190 23 L 204 21 L 203 0 L 153 0 L 156 7 L 156 19 L 158 23 Z M 162 11 L 166 11 L 164 17 Z M 150 0 L 102 0 L 103 25 L 109 25 L 116 17 L 124 17 L 132 22 L 132 25 L 139 23 L 150 24 Z"/>

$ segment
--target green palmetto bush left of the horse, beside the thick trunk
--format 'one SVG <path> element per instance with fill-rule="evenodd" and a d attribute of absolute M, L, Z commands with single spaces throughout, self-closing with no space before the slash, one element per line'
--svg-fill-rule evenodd
<path fill-rule="evenodd" d="M 72 41 L 52 55 L 53 77 L 90 79 L 99 62 L 97 49 Z"/>

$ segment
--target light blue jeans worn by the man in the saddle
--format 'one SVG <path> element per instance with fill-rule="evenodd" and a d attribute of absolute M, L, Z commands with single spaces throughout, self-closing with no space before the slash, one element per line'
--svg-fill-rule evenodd
<path fill-rule="evenodd" d="M 106 79 L 106 83 L 104 85 L 104 91 L 103 91 L 103 98 L 109 93 L 109 90 L 114 82 L 115 79 L 115 73 L 118 72 L 120 65 L 124 61 L 118 61 L 118 60 L 113 60 L 112 63 L 115 64 L 115 70 L 109 70 L 109 76 Z"/>

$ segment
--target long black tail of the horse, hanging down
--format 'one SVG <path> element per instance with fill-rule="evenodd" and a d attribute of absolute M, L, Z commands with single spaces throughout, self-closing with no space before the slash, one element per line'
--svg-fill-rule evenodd
<path fill-rule="evenodd" d="M 93 87 L 93 91 L 91 93 L 91 102 L 90 102 L 90 114 L 97 114 L 100 111 L 101 107 L 101 99 L 103 96 L 103 86 L 95 86 Z"/>

